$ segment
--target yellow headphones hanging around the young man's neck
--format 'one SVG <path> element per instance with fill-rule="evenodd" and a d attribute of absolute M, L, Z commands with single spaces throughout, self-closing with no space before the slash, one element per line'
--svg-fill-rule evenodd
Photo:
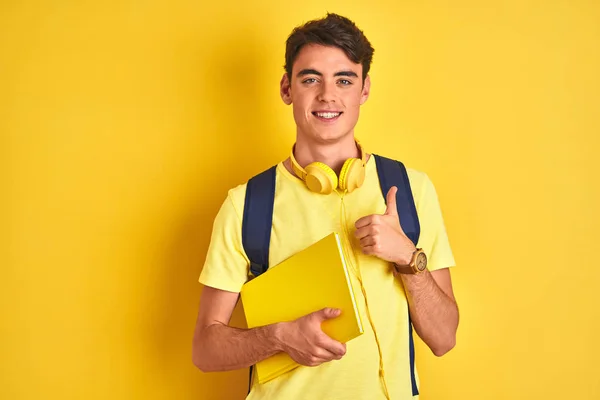
<path fill-rule="evenodd" d="M 339 187 L 350 193 L 361 187 L 365 181 L 365 152 L 358 142 L 356 142 L 356 147 L 358 147 L 361 158 L 347 159 L 342 166 L 339 179 L 335 172 L 322 162 L 313 162 L 308 164 L 306 169 L 302 168 L 294 158 L 295 146 L 292 147 L 290 155 L 292 169 L 312 192 L 329 194 Z"/>

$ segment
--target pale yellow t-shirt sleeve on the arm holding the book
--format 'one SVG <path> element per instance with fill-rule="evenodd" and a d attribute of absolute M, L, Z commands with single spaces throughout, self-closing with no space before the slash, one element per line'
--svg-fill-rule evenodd
<path fill-rule="evenodd" d="M 206 286 L 239 293 L 248 280 L 248 265 L 242 245 L 242 220 L 230 191 L 215 217 L 199 281 Z"/>

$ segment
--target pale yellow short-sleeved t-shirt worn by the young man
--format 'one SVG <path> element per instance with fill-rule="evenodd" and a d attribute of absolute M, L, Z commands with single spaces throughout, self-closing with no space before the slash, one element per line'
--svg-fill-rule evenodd
<path fill-rule="evenodd" d="M 391 399 L 412 399 L 409 358 L 408 304 L 402 282 L 390 264 L 360 251 L 354 223 L 361 217 L 383 214 L 385 199 L 379 186 L 374 157 L 366 165 L 363 186 L 345 194 L 342 218 L 340 193 L 322 195 L 308 190 L 300 179 L 279 163 L 276 169 L 275 204 L 269 265 L 277 265 L 331 232 L 347 238 L 367 294 L 369 311 L 379 337 L 387 388 Z M 435 188 L 427 175 L 407 168 L 421 235 L 417 247 L 428 256 L 429 270 L 454 266 Z M 239 292 L 249 277 L 249 261 L 242 246 L 242 215 L 246 184 L 229 191 L 217 214 L 206 263 L 200 275 L 204 285 Z M 346 229 L 343 227 L 346 224 Z M 348 243 L 348 241 L 344 241 Z M 385 399 L 379 376 L 379 352 L 369 323 L 360 283 L 351 280 L 365 333 L 347 343 L 341 360 L 317 367 L 300 366 L 264 384 L 255 382 L 248 399 Z M 417 377 L 418 383 L 418 377 Z"/>

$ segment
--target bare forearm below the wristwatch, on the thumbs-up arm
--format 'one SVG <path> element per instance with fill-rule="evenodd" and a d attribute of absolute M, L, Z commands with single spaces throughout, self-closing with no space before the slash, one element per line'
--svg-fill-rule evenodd
<path fill-rule="evenodd" d="M 417 334 L 436 356 L 450 351 L 456 343 L 458 307 L 438 286 L 427 270 L 402 278 L 412 323 Z"/>

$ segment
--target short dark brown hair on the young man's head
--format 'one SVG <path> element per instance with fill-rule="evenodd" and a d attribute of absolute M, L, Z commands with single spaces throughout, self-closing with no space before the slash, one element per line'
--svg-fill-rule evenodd
<path fill-rule="evenodd" d="M 363 82 L 371 68 L 374 49 L 363 32 L 346 17 L 327 13 L 325 18 L 315 19 L 294 28 L 285 45 L 285 71 L 292 77 L 292 65 L 307 44 L 333 46 L 341 49 L 356 64 L 362 64 Z"/>

